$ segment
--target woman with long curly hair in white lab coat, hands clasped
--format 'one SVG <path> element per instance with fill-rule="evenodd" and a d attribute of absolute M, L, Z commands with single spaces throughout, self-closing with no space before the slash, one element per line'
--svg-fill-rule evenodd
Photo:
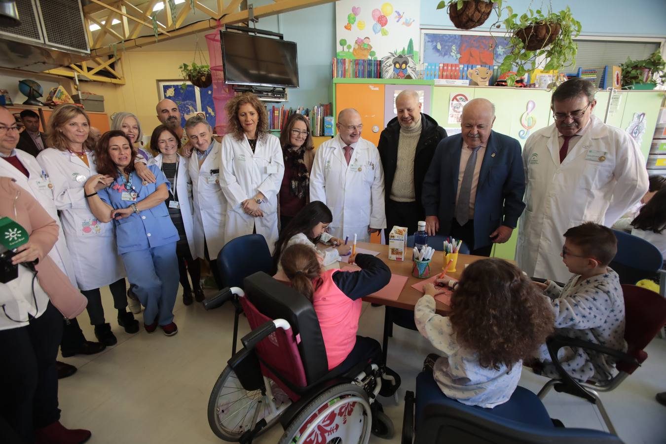
<path fill-rule="evenodd" d="M 284 175 L 280 139 L 266 132 L 266 108 L 252 93 L 226 104 L 220 187 L 227 201 L 224 242 L 258 233 L 271 251 L 278 239 L 278 192 Z"/>

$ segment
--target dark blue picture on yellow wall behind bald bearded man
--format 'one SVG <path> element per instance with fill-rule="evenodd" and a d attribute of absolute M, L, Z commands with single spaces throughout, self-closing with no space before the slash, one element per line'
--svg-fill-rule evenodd
<path fill-rule="evenodd" d="M 157 81 L 157 89 L 160 100 L 171 99 L 178 105 L 180 111 L 180 126 L 185 126 L 188 118 L 197 113 L 202 113 L 213 128 L 215 127 L 215 104 L 212 99 L 212 85 L 200 89 L 185 82 L 182 89 L 182 80 Z"/>

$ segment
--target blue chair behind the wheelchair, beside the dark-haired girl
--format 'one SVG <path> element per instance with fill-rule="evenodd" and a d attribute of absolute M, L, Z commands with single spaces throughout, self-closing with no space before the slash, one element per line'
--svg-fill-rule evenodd
<path fill-rule="evenodd" d="M 266 239 L 261 234 L 246 234 L 227 242 L 217 255 L 217 266 L 226 292 L 231 287 L 243 288 L 243 280 L 256 272 L 270 273 L 273 263 Z M 234 335 L 231 353 L 236 353 L 238 341 L 238 317 L 243 312 L 238 298 L 232 299 L 234 304 Z"/>

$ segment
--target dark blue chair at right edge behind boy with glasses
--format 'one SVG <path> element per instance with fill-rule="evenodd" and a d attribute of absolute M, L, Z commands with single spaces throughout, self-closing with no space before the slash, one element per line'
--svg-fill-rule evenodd
<path fill-rule="evenodd" d="M 641 279 L 653 279 L 661 275 L 659 293 L 666 296 L 664 285 L 666 271 L 661 270 L 663 258 L 653 244 L 627 232 L 613 230 L 617 238 L 617 254 L 609 264 L 620 277 L 620 284 L 635 284 Z"/>

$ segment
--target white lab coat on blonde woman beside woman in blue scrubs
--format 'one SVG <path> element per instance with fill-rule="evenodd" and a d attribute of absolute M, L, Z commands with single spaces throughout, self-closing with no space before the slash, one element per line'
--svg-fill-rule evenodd
<path fill-rule="evenodd" d="M 99 222 L 91 212 L 83 186 L 76 177 L 86 180 L 97 174 L 94 158 L 88 154 L 88 167 L 69 151 L 47 148 L 39 153 L 37 162 L 49 174 L 53 184 L 55 207 L 65 232 L 65 241 L 81 290 L 93 290 L 125 276 L 113 231 L 113 222 Z"/>

